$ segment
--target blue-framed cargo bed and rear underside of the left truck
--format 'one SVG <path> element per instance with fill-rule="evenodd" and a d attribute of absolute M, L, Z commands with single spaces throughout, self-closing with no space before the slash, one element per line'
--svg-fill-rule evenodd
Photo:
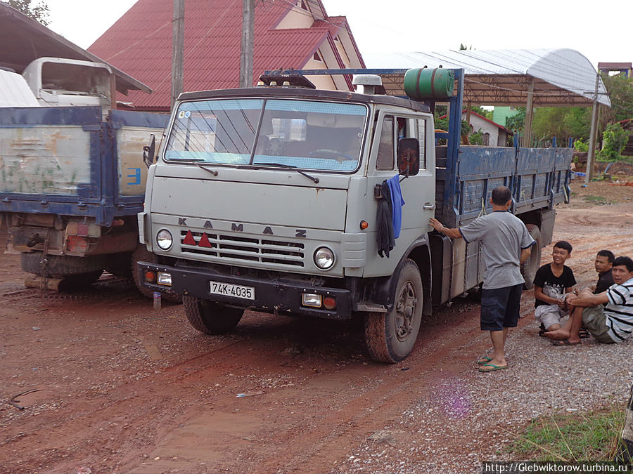
<path fill-rule="evenodd" d="M 132 276 L 147 167 L 167 116 L 101 106 L 0 107 L 0 218 L 27 285 L 74 289 Z M 145 294 L 150 293 L 141 285 Z"/>

